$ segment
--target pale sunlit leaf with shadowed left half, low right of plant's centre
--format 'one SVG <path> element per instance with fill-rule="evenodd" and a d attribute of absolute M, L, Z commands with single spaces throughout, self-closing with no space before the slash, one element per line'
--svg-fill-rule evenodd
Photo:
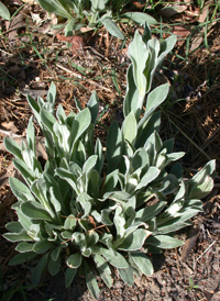
<path fill-rule="evenodd" d="M 138 250 L 143 246 L 147 236 L 148 236 L 148 231 L 144 228 L 138 228 L 135 232 L 127 236 L 123 243 L 118 246 L 118 249 Z M 117 241 L 116 241 L 116 244 L 117 244 Z"/>

